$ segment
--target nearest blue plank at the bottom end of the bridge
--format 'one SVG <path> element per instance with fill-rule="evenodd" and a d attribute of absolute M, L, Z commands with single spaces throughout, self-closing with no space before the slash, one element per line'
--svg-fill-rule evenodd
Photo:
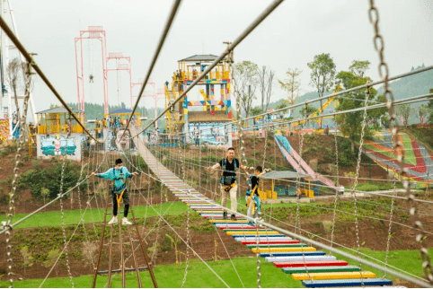
<path fill-rule="evenodd" d="M 366 278 L 366 279 L 336 279 L 336 280 L 306 280 L 302 285 L 308 288 L 314 287 L 342 287 L 342 286 L 383 286 L 393 285 L 393 281 L 382 278 Z"/>

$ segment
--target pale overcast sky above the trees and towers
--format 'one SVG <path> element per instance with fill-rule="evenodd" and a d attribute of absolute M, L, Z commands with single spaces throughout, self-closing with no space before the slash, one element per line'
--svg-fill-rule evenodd
<path fill-rule="evenodd" d="M 107 33 L 107 52 L 131 57 L 132 79 L 137 82 L 145 77 L 172 6 L 172 1 L 165 0 L 10 1 L 22 43 L 38 53 L 36 62 L 63 98 L 74 102 L 74 38 L 80 28 L 102 26 Z M 235 39 L 269 4 L 264 0 L 183 0 L 151 76 L 156 86 L 162 88 L 166 80 L 171 80 L 181 58 L 202 52 L 220 55 L 225 48 L 223 41 Z M 433 1 L 376 0 L 376 5 L 390 74 L 402 74 L 422 63 L 432 65 Z M 278 79 L 285 78 L 287 68 L 298 68 L 303 71 L 302 92 L 314 91 L 306 64 L 321 53 L 331 54 L 337 71 L 347 70 L 352 60 L 369 60 L 372 66 L 367 74 L 378 80 L 378 57 L 367 10 L 367 0 L 286 0 L 235 48 L 235 61 L 270 66 Z M 86 101 L 102 103 L 101 44 L 91 41 L 84 41 L 84 93 Z M 14 53 L 11 50 L 11 57 Z M 92 69 L 94 83 L 89 85 Z M 110 72 L 109 85 L 110 103 L 117 102 L 119 87 L 122 101 L 128 106 L 128 74 L 122 72 L 118 81 L 117 73 Z M 136 87 L 134 94 L 138 91 Z M 37 110 L 58 103 L 40 79 L 33 95 Z M 276 83 L 271 101 L 283 97 Z M 141 104 L 153 107 L 150 100 Z M 163 101 L 159 106 L 163 107 Z"/>

